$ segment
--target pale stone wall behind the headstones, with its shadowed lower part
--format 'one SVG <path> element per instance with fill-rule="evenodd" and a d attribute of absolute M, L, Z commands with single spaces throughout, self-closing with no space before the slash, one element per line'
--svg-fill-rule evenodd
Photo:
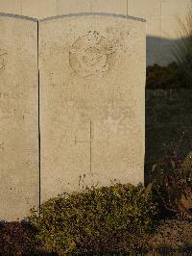
<path fill-rule="evenodd" d="M 0 0 L 0 13 L 44 18 L 69 13 L 118 13 L 143 17 L 147 23 L 147 64 L 175 61 L 173 48 L 191 0 Z"/>

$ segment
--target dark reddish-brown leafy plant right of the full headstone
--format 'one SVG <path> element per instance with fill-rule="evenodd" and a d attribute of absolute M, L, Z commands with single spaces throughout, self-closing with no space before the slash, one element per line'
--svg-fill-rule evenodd
<path fill-rule="evenodd" d="M 192 154 L 182 162 L 178 146 L 172 154 L 156 162 L 147 187 L 149 191 L 156 193 L 157 200 L 168 211 L 192 218 Z"/>

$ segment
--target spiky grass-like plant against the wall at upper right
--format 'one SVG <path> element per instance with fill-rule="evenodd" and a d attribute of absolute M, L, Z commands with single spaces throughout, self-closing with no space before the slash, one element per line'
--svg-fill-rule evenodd
<path fill-rule="evenodd" d="M 185 19 L 179 18 L 179 36 L 173 54 L 186 84 L 192 86 L 192 2 Z"/>

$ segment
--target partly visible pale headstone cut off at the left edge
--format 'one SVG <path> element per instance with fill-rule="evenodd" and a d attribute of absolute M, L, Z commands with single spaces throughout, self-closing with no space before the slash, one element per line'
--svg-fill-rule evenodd
<path fill-rule="evenodd" d="M 0 220 L 38 204 L 37 22 L 0 14 Z"/>

